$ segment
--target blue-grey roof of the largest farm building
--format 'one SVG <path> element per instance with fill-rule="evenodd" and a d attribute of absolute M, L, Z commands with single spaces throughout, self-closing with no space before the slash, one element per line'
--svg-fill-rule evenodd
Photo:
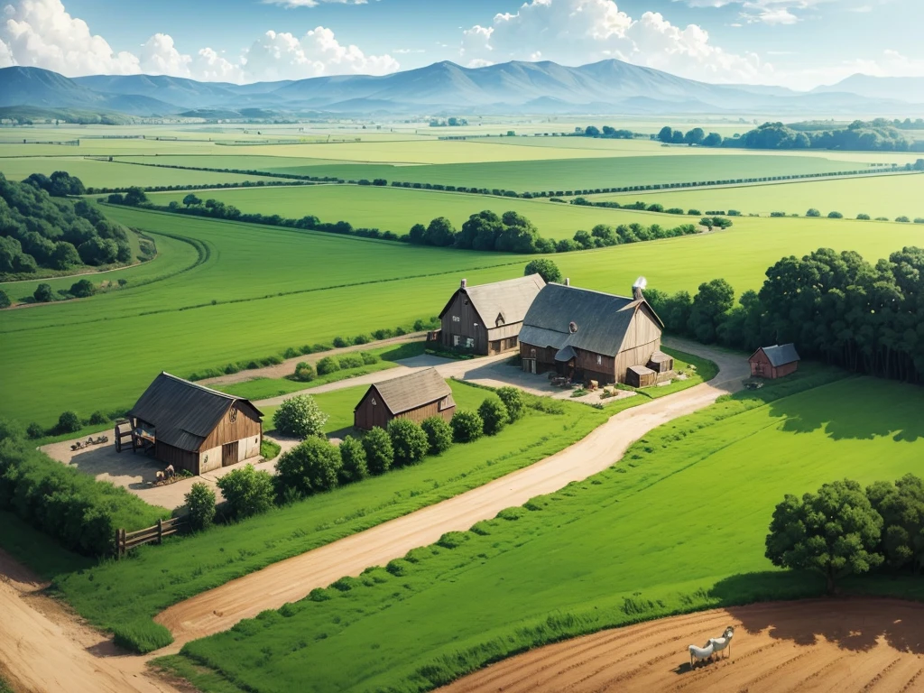
<path fill-rule="evenodd" d="M 595 354 L 615 356 L 639 309 L 648 310 L 663 327 L 663 322 L 644 298 L 549 284 L 532 302 L 523 320 L 519 341 L 556 349 L 572 346 Z"/>

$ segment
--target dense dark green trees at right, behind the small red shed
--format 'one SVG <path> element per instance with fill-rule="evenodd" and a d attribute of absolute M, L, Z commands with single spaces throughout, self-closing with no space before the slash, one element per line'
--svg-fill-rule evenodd
<path fill-rule="evenodd" d="M 924 382 L 924 249 L 906 247 L 875 264 L 857 252 L 818 249 L 767 270 L 760 291 L 724 279 L 668 295 L 646 291 L 668 331 L 704 344 L 754 350 L 796 344 L 800 355 L 848 371 Z"/>

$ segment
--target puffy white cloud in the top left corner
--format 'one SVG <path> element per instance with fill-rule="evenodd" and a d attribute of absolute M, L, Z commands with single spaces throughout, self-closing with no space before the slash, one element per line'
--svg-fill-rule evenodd
<path fill-rule="evenodd" d="M 0 61 L 43 67 L 67 76 L 139 71 L 139 59 L 114 51 L 87 23 L 67 14 L 60 0 L 20 0 L 4 8 L 0 25 Z"/>

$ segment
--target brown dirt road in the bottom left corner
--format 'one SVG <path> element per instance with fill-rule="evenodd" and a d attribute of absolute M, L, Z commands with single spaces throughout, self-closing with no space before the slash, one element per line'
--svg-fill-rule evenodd
<path fill-rule="evenodd" d="M 140 657 L 81 626 L 45 585 L 0 551 L 0 674 L 17 693 L 179 693 Z"/>

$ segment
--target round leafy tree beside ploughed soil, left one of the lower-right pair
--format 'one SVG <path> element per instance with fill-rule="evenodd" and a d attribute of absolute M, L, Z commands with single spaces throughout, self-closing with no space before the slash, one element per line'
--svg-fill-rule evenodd
<path fill-rule="evenodd" d="M 837 580 L 881 565 L 882 517 L 853 480 L 833 481 L 802 498 L 786 495 L 767 535 L 773 565 L 821 573 L 830 594 Z"/>

